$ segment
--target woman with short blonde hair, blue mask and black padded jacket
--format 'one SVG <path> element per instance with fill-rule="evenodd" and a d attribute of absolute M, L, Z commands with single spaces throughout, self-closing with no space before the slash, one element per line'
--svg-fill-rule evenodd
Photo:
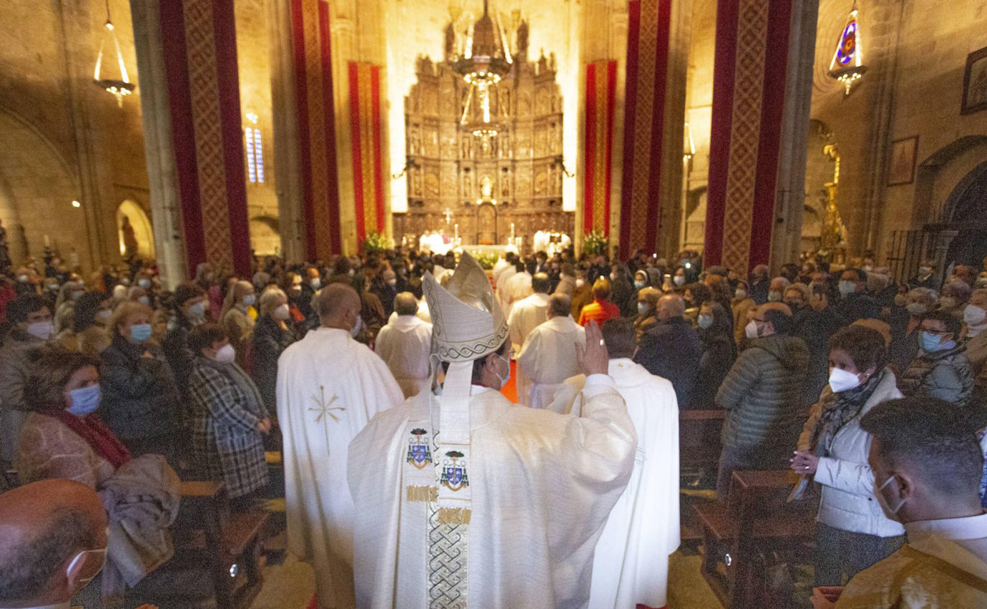
<path fill-rule="evenodd" d="M 121 303 L 110 320 L 110 346 L 100 367 L 100 414 L 134 456 L 163 454 L 172 467 L 177 455 L 181 405 L 172 369 L 151 339 L 150 306 Z"/>

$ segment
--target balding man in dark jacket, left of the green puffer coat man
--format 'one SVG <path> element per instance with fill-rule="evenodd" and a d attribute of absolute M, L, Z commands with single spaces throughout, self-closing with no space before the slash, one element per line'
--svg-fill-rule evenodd
<path fill-rule="evenodd" d="M 647 372 L 667 378 L 675 388 L 680 408 L 692 403 L 692 390 L 699 372 L 703 347 L 699 335 L 685 320 L 685 302 L 677 294 L 666 294 L 655 307 L 657 323 L 641 337 L 635 362 Z"/>

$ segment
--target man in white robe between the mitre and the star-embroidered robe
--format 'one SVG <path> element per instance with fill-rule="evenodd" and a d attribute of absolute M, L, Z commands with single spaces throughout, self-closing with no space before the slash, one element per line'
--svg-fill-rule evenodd
<path fill-rule="evenodd" d="M 418 301 L 411 292 L 394 297 L 394 312 L 377 334 L 374 351 L 394 374 L 405 397 L 431 390 L 428 356 L 431 324 L 418 318 Z"/>

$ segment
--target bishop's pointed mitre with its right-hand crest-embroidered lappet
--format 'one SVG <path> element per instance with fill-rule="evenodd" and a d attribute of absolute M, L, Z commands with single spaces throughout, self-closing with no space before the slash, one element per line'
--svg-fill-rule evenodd
<path fill-rule="evenodd" d="M 443 288 L 425 273 L 422 291 L 432 318 L 432 349 L 449 363 L 442 394 L 429 395 L 439 408 L 435 442 L 435 482 L 440 524 L 469 524 L 470 501 L 470 388 L 473 362 L 495 353 L 507 340 L 507 322 L 493 298 L 487 273 L 468 253 Z M 413 492 L 410 491 L 410 497 Z"/>

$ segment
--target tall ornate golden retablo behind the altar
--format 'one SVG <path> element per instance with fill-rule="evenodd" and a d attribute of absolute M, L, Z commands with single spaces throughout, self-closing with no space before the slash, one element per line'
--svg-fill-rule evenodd
<path fill-rule="evenodd" d="M 468 248 L 505 245 L 516 236 L 530 250 L 538 231 L 571 235 L 573 215 L 562 211 L 563 98 L 555 56 L 528 61 L 527 23 L 508 34 L 494 22 L 498 52 L 509 60 L 482 91 L 475 73 L 465 70 L 464 77 L 463 64 L 471 50 L 483 60 L 477 53 L 490 40 L 471 37 L 480 22 L 464 26 L 462 33 L 456 23 L 446 28 L 443 62 L 418 58 L 418 82 L 405 98 L 408 212 L 394 217 L 395 239 L 418 246 L 419 237 L 438 232 Z"/>

